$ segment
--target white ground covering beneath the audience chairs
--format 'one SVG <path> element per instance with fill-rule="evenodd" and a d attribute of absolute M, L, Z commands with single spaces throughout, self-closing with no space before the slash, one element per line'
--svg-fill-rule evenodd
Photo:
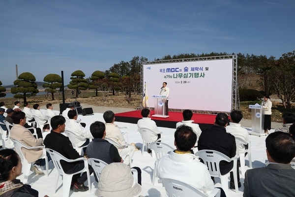
<path fill-rule="evenodd" d="M 82 116 L 80 115 L 79 118 L 81 118 L 81 122 L 86 123 L 86 129 L 89 131 L 89 126 L 94 121 L 101 121 L 104 122 L 102 114 L 101 113 L 95 113 L 94 115 L 90 116 Z M 128 138 L 129 143 L 136 143 L 137 146 L 142 146 L 142 138 L 139 132 L 137 131 L 137 125 L 136 124 L 130 124 L 130 123 L 122 123 L 122 122 L 115 122 L 119 127 L 128 127 Z M 249 131 L 251 129 L 248 128 Z M 175 129 L 168 129 L 168 128 L 159 128 L 159 131 L 163 132 L 163 140 L 162 142 L 167 143 L 174 146 L 174 131 Z M 273 132 L 270 131 L 270 132 Z M 254 136 L 249 135 L 249 138 L 251 140 L 252 146 L 251 146 L 251 152 L 252 152 L 252 165 L 253 168 L 256 167 L 264 167 L 266 166 L 266 146 L 265 146 L 265 139 L 266 136 Z M 12 146 L 9 146 L 7 144 L 8 148 L 12 148 Z M 151 154 L 148 154 L 147 152 L 144 152 L 144 155 L 142 156 L 141 151 L 136 151 L 133 158 L 132 158 L 132 164 L 131 166 L 138 166 L 142 169 L 142 187 L 143 187 L 143 196 L 144 197 L 167 197 L 165 189 L 162 187 L 162 184 L 159 184 L 158 178 L 156 178 L 156 183 L 153 186 L 152 185 L 152 175 L 153 175 L 153 169 L 154 169 L 154 162 L 155 159 L 152 158 Z M 248 158 L 246 157 L 246 170 L 249 169 L 249 162 Z M 31 187 L 35 190 L 39 191 L 39 197 L 44 197 L 44 195 L 48 195 L 49 197 L 62 197 L 62 180 L 59 179 L 58 182 L 58 190 L 56 194 L 54 194 L 53 191 L 53 182 L 54 182 L 54 176 L 56 174 L 56 169 L 54 169 L 54 165 L 50 162 L 49 163 L 49 176 L 46 174 L 44 175 L 36 175 L 31 172 L 29 175 L 28 184 L 31 185 Z M 183 174 L 185 176 L 185 174 Z M 23 179 L 23 175 L 18 177 L 19 179 Z M 78 192 L 74 193 L 73 191 L 70 191 L 70 197 L 94 197 L 94 192 L 97 188 L 97 183 L 94 181 L 93 175 L 90 176 L 91 179 L 91 194 L 89 192 Z M 242 183 L 242 187 L 239 188 L 238 193 L 235 191 L 229 190 L 229 197 L 242 197 L 243 194 L 243 180 L 244 175 L 240 174 L 240 182 Z M 86 182 L 87 184 L 87 182 Z M 221 187 L 220 180 L 218 178 L 215 178 L 215 187 Z"/>

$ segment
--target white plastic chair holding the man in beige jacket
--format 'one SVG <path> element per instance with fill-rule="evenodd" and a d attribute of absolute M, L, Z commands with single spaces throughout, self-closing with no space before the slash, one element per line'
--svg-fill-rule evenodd
<path fill-rule="evenodd" d="M 29 171 L 31 168 L 31 164 L 32 163 L 28 163 L 28 160 L 25 158 L 22 148 L 25 149 L 29 149 L 29 150 L 34 150 L 34 149 L 42 149 L 43 150 L 43 154 L 39 159 L 45 159 L 45 164 L 46 164 L 46 173 L 48 176 L 48 159 L 46 156 L 46 150 L 45 150 L 45 146 L 27 146 L 26 144 L 20 142 L 17 139 L 11 138 L 11 141 L 14 143 L 14 148 L 17 152 L 17 154 L 19 154 L 21 160 L 22 160 L 22 164 L 23 164 L 23 173 L 24 173 L 24 179 L 25 182 L 28 182 L 28 178 L 29 178 Z"/>

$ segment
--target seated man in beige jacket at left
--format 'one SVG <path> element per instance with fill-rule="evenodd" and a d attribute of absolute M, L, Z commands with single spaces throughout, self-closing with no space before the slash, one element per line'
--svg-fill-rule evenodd
<path fill-rule="evenodd" d="M 14 126 L 11 128 L 10 138 L 17 139 L 28 146 L 40 146 L 43 144 L 42 138 L 36 139 L 33 134 L 24 127 L 26 124 L 26 114 L 23 111 L 14 112 L 11 118 L 13 120 Z M 44 174 L 40 168 L 40 165 L 43 166 L 45 162 L 42 159 L 39 160 L 43 154 L 42 149 L 28 150 L 23 148 L 22 151 L 29 164 L 35 162 L 32 165 L 32 170 L 36 174 Z"/>

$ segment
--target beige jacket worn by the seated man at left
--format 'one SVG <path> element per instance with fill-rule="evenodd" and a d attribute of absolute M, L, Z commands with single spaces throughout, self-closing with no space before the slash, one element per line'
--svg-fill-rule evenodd
<path fill-rule="evenodd" d="M 42 138 L 36 139 L 28 129 L 18 124 L 11 128 L 10 137 L 15 138 L 28 146 L 40 146 L 43 144 Z M 41 148 L 33 150 L 22 148 L 22 151 L 29 164 L 38 160 L 43 154 Z"/>

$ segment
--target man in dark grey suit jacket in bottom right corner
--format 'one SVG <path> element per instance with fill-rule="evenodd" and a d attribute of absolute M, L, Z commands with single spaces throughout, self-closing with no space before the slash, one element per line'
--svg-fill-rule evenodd
<path fill-rule="evenodd" d="M 295 140 L 288 133 L 274 132 L 266 137 L 266 167 L 248 169 L 244 179 L 243 197 L 292 197 L 295 169 Z"/>

